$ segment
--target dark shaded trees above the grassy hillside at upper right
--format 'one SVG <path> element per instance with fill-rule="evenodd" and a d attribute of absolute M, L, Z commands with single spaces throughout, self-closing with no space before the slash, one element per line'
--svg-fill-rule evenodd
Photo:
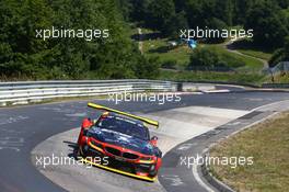
<path fill-rule="evenodd" d="M 129 0 L 128 0 L 129 1 Z M 254 43 L 281 46 L 288 35 L 289 20 L 284 9 L 288 0 L 130 0 L 130 20 L 176 37 L 181 29 L 220 30 L 244 25 L 254 30 Z M 219 39 L 220 41 L 220 39 Z M 216 39 L 212 41 L 216 43 Z M 218 39 L 217 39 L 218 42 Z"/>

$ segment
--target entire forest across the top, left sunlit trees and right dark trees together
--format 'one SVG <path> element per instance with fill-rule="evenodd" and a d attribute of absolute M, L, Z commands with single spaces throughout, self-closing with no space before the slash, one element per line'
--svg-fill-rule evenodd
<path fill-rule="evenodd" d="M 269 59 L 274 66 L 289 59 L 288 5 L 289 0 L 0 0 L 0 77 L 158 78 L 161 61 L 140 53 L 131 26 L 151 29 L 171 39 L 177 38 L 181 29 L 196 26 L 252 29 L 252 45 L 275 50 Z M 36 30 L 53 26 L 108 29 L 109 37 L 35 37 Z"/>

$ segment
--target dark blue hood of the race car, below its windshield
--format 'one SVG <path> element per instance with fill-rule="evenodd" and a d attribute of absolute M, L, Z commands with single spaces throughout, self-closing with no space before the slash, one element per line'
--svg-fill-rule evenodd
<path fill-rule="evenodd" d="M 101 142 L 135 150 L 144 155 L 153 155 L 153 146 L 148 140 L 113 132 L 109 129 L 97 129 L 94 138 Z"/>

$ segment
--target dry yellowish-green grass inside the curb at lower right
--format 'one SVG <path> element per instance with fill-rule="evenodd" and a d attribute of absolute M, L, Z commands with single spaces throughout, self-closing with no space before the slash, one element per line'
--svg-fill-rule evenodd
<path fill-rule="evenodd" d="M 243 131 L 215 146 L 211 157 L 253 157 L 253 165 L 211 166 L 212 173 L 236 191 L 289 189 L 289 112 Z"/>

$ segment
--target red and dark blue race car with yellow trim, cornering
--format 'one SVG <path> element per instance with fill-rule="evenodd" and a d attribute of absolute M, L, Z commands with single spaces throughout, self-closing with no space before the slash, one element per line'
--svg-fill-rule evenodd
<path fill-rule="evenodd" d="M 83 120 L 77 155 L 96 167 L 154 181 L 162 165 L 162 151 L 157 146 L 158 137 L 150 137 L 148 126 L 158 128 L 159 122 L 94 103 L 88 106 L 104 112 L 97 120 Z M 91 160 L 94 157 L 107 158 L 107 163 L 94 163 Z"/>

